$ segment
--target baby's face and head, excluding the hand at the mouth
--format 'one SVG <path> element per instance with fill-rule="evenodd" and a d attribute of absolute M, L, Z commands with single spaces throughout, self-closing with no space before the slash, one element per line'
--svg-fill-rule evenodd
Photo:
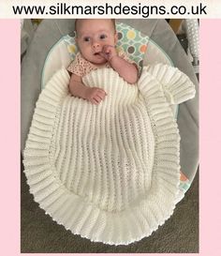
<path fill-rule="evenodd" d="M 99 53 L 105 45 L 115 46 L 117 34 L 111 20 L 79 20 L 77 28 L 77 43 L 83 57 L 102 65 L 107 60 Z"/>

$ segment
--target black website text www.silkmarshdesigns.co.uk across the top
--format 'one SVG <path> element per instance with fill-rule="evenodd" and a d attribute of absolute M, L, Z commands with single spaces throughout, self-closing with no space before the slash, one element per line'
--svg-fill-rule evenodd
<path fill-rule="evenodd" d="M 134 15 L 140 18 L 150 18 L 155 15 L 206 15 L 207 6 L 199 3 L 186 7 L 184 5 L 171 6 L 169 9 L 165 6 L 147 6 L 139 3 L 138 5 L 126 6 L 122 3 L 112 6 L 108 3 L 103 5 L 90 5 L 90 6 L 70 6 L 66 3 L 57 3 L 52 6 L 12 6 L 14 15 Z"/>

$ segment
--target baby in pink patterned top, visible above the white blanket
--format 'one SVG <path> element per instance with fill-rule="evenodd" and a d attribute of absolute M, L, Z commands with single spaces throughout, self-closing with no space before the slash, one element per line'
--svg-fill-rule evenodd
<path fill-rule="evenodd" d="M 138 68 L 124 52 L 116 52 L 117 32 L 112 19 L 76 20 L 76 42 L 80 53 L 67 70 L 71 73 L 69 90 L 79 98 L 84 98 L 93 104 L 99 104 L 106 92 L 97 87 L 84 85 L 81 78 L 97 68 L 113 68 L 127 83 L 136 83 Z"/>

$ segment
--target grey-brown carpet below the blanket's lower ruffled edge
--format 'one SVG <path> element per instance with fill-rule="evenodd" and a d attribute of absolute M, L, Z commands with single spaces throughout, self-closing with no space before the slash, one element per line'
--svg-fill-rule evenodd
<path fill-rule="evenodd" d="M 23 167 L 21 166 L 22 170 Z M 128 246 L 92 243 L 55 223 L 34 202 L 24 173 L 21 173 L 21 252 L 22 253 L 144 253 L 199 252 L 199 174 L 177 204 L 174 214 L 150 237 Z"/>

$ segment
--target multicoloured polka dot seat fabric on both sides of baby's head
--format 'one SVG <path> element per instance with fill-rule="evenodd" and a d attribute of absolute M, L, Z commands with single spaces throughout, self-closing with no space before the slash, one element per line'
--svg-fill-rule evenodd
<path fill-rule="evenodd" d="M 143 35 L 139 30 L 125 24 L 116 23 L 118 32 L 117 51 L 125 52 L 127 56 L 137 63 L 139 70 L 142 68 L 142 60 L 144 53 L 147 51 L 147 43 L 149 37 Z M 78 53 L 78 47 L 75 41 L 75 36 L 65 36 L 67 51 L 70 53 L 71 58 L 74 59 Z"/>

